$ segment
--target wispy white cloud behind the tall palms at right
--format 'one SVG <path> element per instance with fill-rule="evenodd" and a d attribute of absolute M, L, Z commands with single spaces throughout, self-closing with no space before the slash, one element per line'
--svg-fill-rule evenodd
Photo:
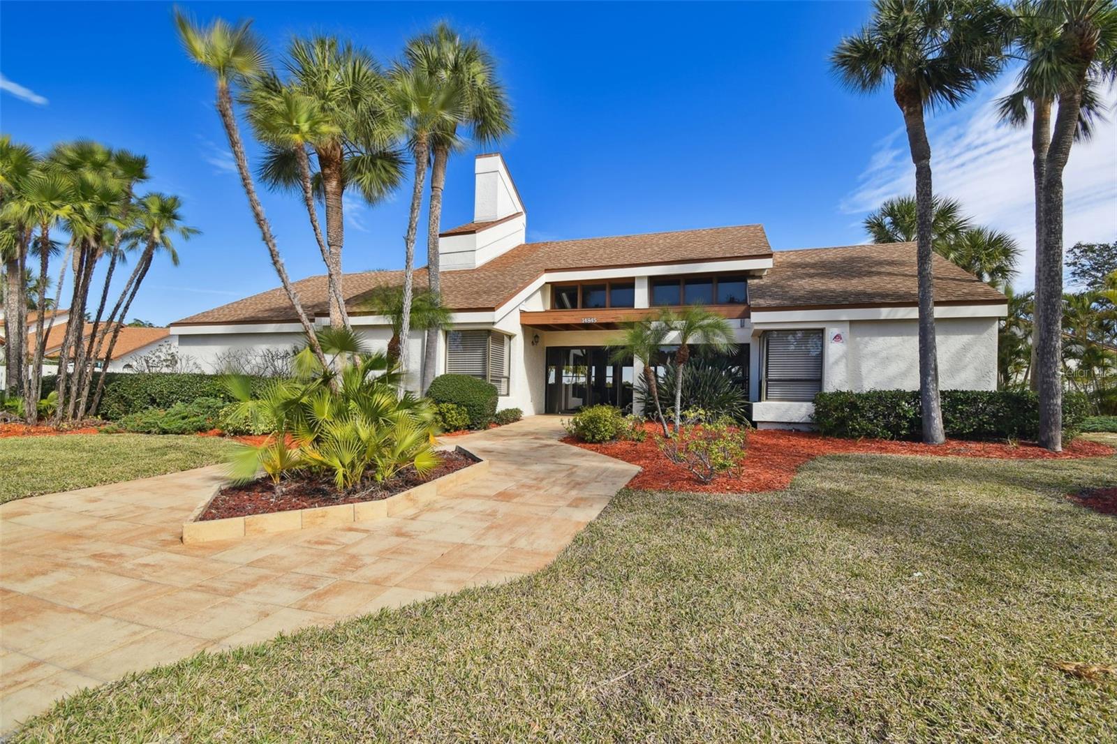
<path fill-rule="evenodd" d="M 1031 128 L 997 121 L 996 98 L 1011 86 L 956 112 L 932 117 L 935 193 L 962 202 L 975 221 L 1012 235 L 1021 247 L 1016 286 L 1033 285 L 1035 265 L 1034 187 Z M 1098 122 L 1089 142 L 1077 142 L 1063 171 L 1063 245 L 1117 238 L 1117 95 L 1106 94 L 1108 121 Z M 896 113 L 897 118 L 899 112 Z M 858 185 L 839 208 L 863 216 L 885 199 L 915 192 L 915 166 L 903 126 L 877 143 Z"/>

